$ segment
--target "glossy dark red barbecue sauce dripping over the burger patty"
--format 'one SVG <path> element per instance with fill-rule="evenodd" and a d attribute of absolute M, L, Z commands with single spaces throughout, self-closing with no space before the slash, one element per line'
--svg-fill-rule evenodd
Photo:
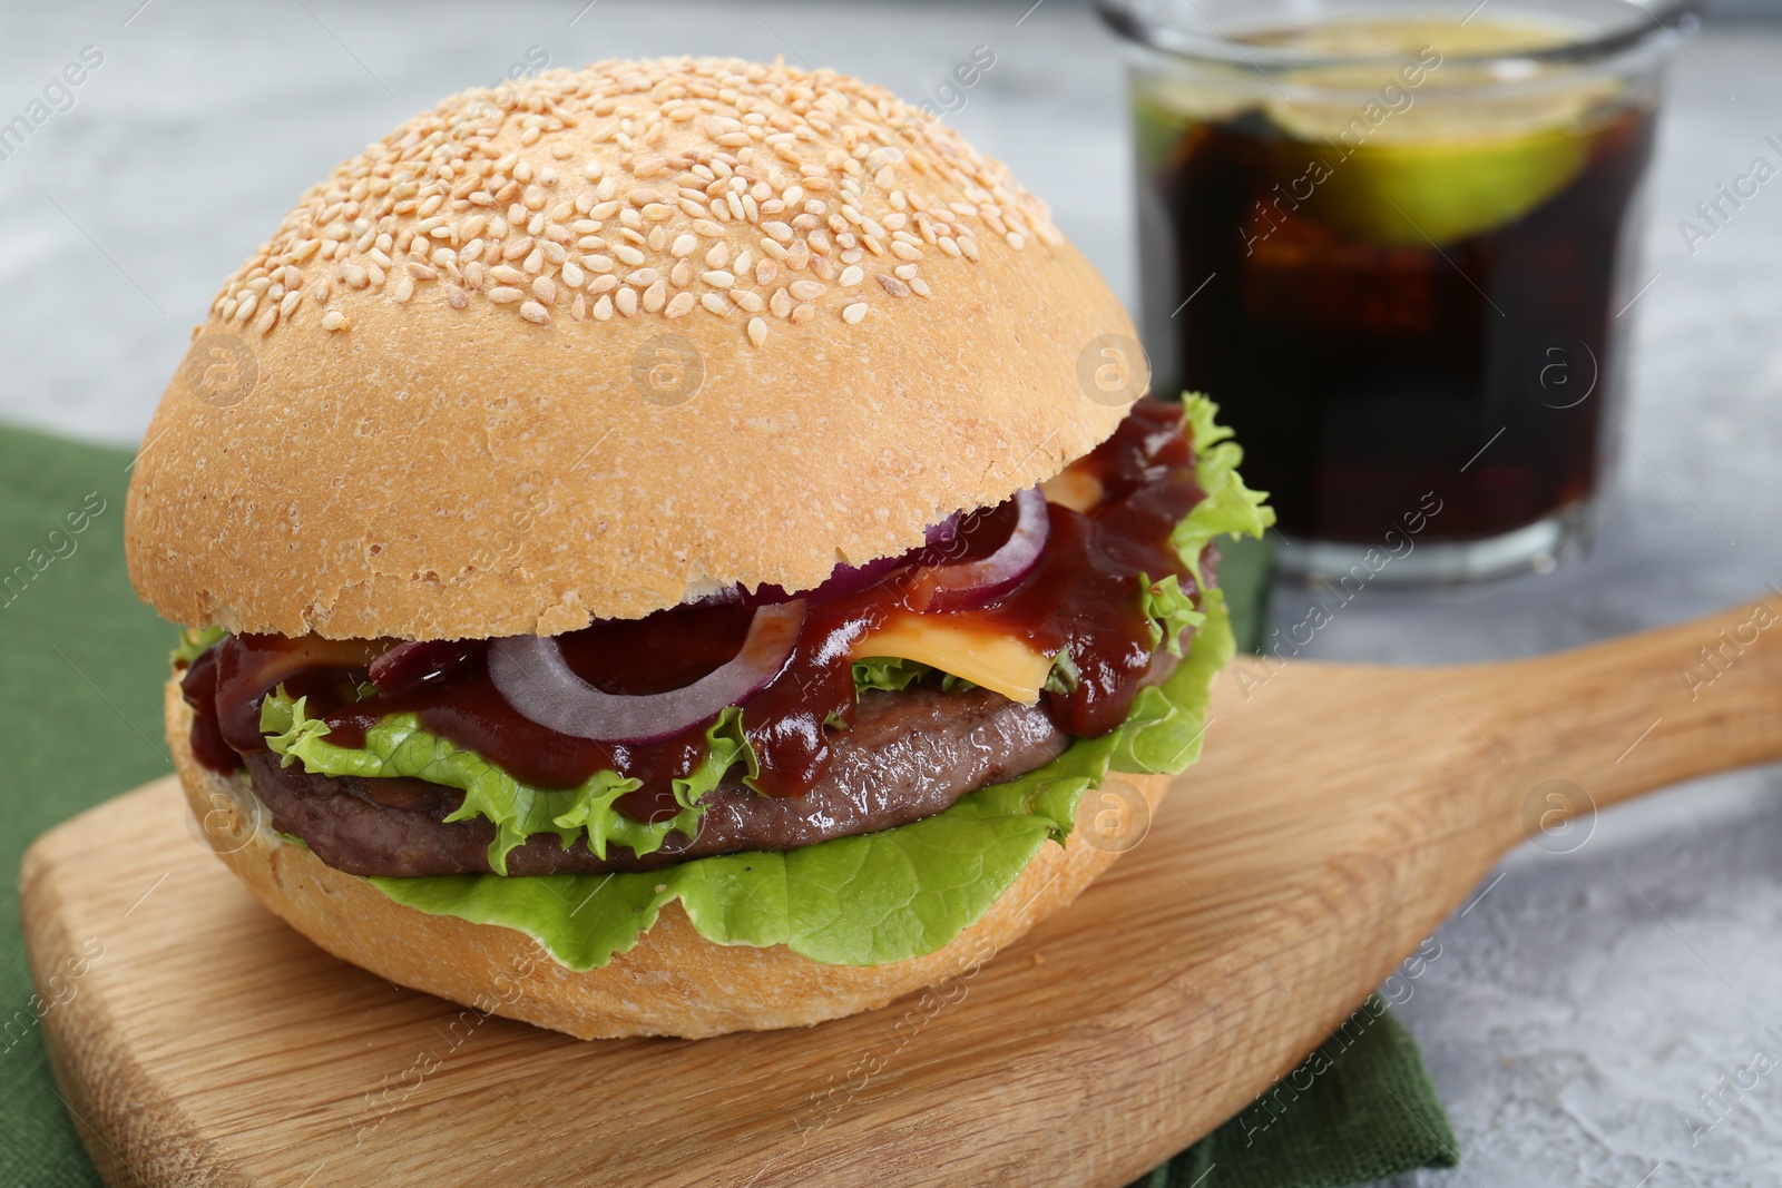
<path fill-rule="evenodd" d="M 1181 410 L 1139 401 L 1114 436 L 1073 468 L 1099 484 L 1099 502 L 1087 511 L 1048 504 L 1050 538 L 1037 566 L 993 604 L 923 611 L 921 572 L 994 552 L 1014 529 L 1012 500 L 966 517 L 952 541 L 916 550 L 877 584 L 809 607 L 786 668 L 743 702 L 743 732 L 759 764 L 748 782 L 768 796 L 811 789 L 829 762 L 830 732 L 854 721 L 854 643 L 900 614 L 1018 636 L 1046 655 L 1067 652 L 1075 688 L 1042 695 L 1059 728 L 1094 737 L 1124 721 L 1157 652 L 1140 611 L 1140 574 L 1153 582 L 1176 575 L 1185 591 L 1198 593 L 1169 543 L 1176 522 L 1203 497 Z M 661 693 L 734 657 L 752 614 L 740 604 L 681 606 L 642 620 L 595 622 L 558 641 L 570 670 L 597 689 Z M 675 810 L 672 782 L 706 757 L 709 721 L 645 745 L 558 734 L 522 718 L 501 696 L 488 679 L 486 641 L 467 645 L 444 679 L 356 700 L 374 650 L 365 661 L 312 652 L 308 659 L 317 663 L 305 666 L 307 657 L 298 654 L 315 648 L 315 641 L 226 636 L 184 680 L 185 700 L 196 711 L 194 755 L 208 768 L 233 771 L 241 764 L 237 752 L 264 748 L 258 705 L 273 688 L 266 679 L 278 677 L 292 696 L 310 698 L 308 712 L 328 723 L 330 743 L 362 746 L 365 732 L 385 716 L 415 712 L 426 730 L 526 784 L 568 789 L 611 769 L 642 780 L 617 801 L 627 816 L 650 819 Z M 280 650 L 287 654 L 283 663 Z"/>

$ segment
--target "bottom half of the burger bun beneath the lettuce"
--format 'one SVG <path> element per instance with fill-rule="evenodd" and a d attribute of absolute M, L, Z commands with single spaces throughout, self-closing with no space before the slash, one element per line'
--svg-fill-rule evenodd
<path fill-rule="evenodd" d="M 1075 899 L 1128 848 L 1121 839 L 1091 844 L 1087 828 L 1073 830 L 1067 844 L 1041 848 L 984 919 L 946 948 L 903 962 L 825 965 L 786 946 L 713 944 L 674 901 L 636 948 L 602 969 L 576 972 L 526 933 L 428 915 L 283 841 L 244 778 L 217 775 L 192 757 L 191 709 L 178 682 L 168 684 L 166 716 L 185 800 L 207 844 L 285 923 L 380 978 L 584 1040 L 800 1028 L 884 1006 L 977 969 Z M 1119 778 L 1153 812 L 1169 787 L 1164 775 Z M 1085 796 L 1083 805 L 1092 800 Z"/>

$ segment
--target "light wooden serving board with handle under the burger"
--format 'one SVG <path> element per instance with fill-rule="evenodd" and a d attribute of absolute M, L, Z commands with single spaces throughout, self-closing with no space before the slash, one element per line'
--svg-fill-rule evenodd
<path fill-rule="evenodd" d="M 337 962 L 162 780 L 25 860 L 43 1031 L 110 1184 L 1123 1184 L 1506 848 L 1782 757 L 1778 623 L 1782 597 L 1511 664 L 1240 661 L 1149 835 L 937 1008 L 713 1040 L 577 1042 Z"/>

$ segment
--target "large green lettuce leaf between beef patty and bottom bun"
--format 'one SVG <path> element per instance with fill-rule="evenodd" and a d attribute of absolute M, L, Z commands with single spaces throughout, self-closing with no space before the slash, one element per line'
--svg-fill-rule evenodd
<path fill-rule="evenodd" d="M 1231 533 L 1260 536 L 1274 515 L 1262 504 L 1263 495 L 1238 479 L 1242 451 L 1228 440 L 1230 431 L 1214 424 L 1217 408 L 1198 395 L 1183 403 L 1206 499 L 1171 541 L 1199 574 L 1199 552 L 1208 541 Z M 1155 597 L 1165 622 L 1181 620 L 1169 593 Z M 1222 591 L 1206 590 L 1192 613 L 1205 622 L 1187 657 L 1169 680 L 1139 693 L 1124 725 L 1098 739 L 1078 739 L 1044 768 L 982 787 L 911 825 L 802 850 L 697 858 L 642 875 L 369 882 L 421 912 L 522 932 L 576 971 L 631 949 L 670 901 L 679 901 L 693 928 L 716 944 L 784 944 L 834 965 L 921 956 L 982 919 L 1041 846 L 1064 841 L 1083 791 L 1110 769 L 1176 773 L 1199 757 L 1212 684 L 1235 647 Z"/>

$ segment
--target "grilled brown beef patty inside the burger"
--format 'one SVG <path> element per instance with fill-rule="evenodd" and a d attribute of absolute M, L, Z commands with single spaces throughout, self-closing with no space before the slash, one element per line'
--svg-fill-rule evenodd
<path fill-rule="evenodd" d="M 1160 654 L 1160 659 L 1169 657 Z M 1148 680 L 1164 675 L 1153 671 Z M 704 796 L 697 837 L 668 834 L 661 850 L 642 857 L 608 846 L 606 858 L 599 858 L 586 837 L 565 850 L 554 834 L 544 834 L 508 853 L 508 875 L 647 871 L 684 858 L 793 850 L 870 834 L 934 816 L 966 793 L 1041 768 L 1069 743 L 1042 707 L 989 689 L 868 689 L 854 727 L 830 737 L 829 769 L 809 794 L 763 796 L 731 775 Z M 273 826 L 301 837 L 339 871 L 392 876 L 490 871 L 495 826 L 481 818 L 444 819 L 463 801 L 454 787 L 412 778 L 308 775 L 301 762 L 282 768 L 271 752 L 248 755 L 248 768 L 253 791 L 273 812 Z"/>

